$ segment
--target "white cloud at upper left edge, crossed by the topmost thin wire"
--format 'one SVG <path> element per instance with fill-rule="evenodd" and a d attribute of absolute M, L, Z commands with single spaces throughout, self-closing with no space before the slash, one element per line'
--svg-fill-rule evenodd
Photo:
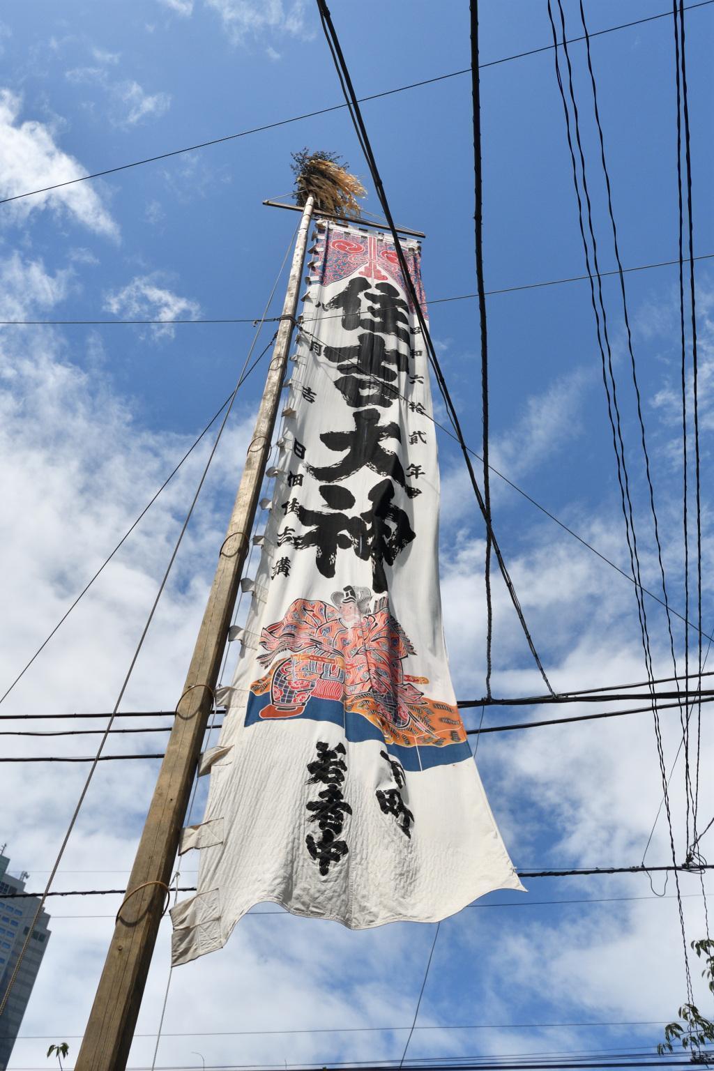
<path fill-rule="evenodd" d="M 34 120 L 18 123 L 21 101 L 9 89 L 0 90 L 0 194 L 13 197 L 69 182 L 87 174 L 79 161 L 63 152 L 49 127 Z M 5 215 L 15 221 L 30 213 L 49 209 L 60 218 L 67 216 L 90 230 L 108 238 L 119 238 L 119 227 L 111 218 L 96 187 L 79 182 L 48 193 L 25 197 L 3 205 Z"/>

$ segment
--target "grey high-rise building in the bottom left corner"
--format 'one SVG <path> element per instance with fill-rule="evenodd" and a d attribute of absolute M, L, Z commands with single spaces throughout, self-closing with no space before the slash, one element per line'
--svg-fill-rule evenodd
<path fill-rule="evenodd" d="M 13 877 L 7 873 L 9 865 L 10 859 L 0 854 L 0 1000 L 13 975 L 40 903 L 35 896 L 12 895 L 25 891 L 26 875 Z M 0 1015 L 0 1071 L 4 1071 L 10 1061 L 25 1009 L 47 948 L 48 923 L 49 916 L 46 911 L 42 911 L 32 931 L 32 938 L 22 957 L 5 1009 Z"/>

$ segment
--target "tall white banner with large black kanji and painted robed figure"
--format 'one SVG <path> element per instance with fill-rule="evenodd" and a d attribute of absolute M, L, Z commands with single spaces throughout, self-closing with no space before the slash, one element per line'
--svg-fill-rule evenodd
<path fill-rule="evenodd" d="M 402 248 L 420 299 L 420 247 Z M 426 346 L 392 240 L 319 221 L 272 502 L 172 962 L 254 904 L 352 929 L 522 888 L 452 688 Z"/>

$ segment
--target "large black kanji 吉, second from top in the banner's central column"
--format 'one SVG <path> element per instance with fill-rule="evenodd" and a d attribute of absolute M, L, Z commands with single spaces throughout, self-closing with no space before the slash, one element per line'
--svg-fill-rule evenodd
<path fill-rule="evenodd" d="M 335 387 L 353 409 L 392 405 L 399 395 L 398 375 L 409 369 L 407 356 L 388 349 L 376 334 L 361 334 L 353 346 L 325 346 L 324 356 L 343 373 Z"/>

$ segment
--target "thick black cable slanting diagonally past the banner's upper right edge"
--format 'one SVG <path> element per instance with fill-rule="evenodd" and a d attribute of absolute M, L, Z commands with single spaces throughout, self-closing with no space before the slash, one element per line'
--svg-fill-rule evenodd
<path fill-rule="evenodd" d="M 367 162 L 367 166 L 369 168 L 369 172 L 371 175 L 371 179 L 373 179 L 373 182 L 375 184 L 375 190 L 377 192 L 377 196 L 378 196 L 379 202 L 380 202 L 382 211 L 384 213 L 384 217 L 388 221 L 388 224 L 389 224 L 389 227 L 390 227 L 390 231 L 392 233 L 392 238 L 393 238 L 393 241 L 394 241 L 394 248 L 395 248 L 395 253 L 397 255 L 397 260 L 399 261 L 399 268 L 400 268 L 402 281 L 404 281 L 404 284 L 405 284 L 405 289 L 407 290 L 407 292 L 409 295 L 409 298 L 410 298 L 411 304 L 412 304 L 412 306 L 414 308 L 416 318 L 419 319 L 420 328 L 422 330 L 422 336 L 424 338 L 424 342 L 425 342 L 426 347 L 427 347 L 427 352 L 429 355 L 429 362 L 431 364 L 431 367 L 434 369 L 435 376 L 437 378 L 437 383 L 439 386 L 439 390 L 440 390 L 441 396 L 442 396 L 442 398 L 444 401 L 444 404 L 446 406 L 446 409 L 449 411 L 449 417 L 450 417 L 452 426 L 454 428 L 454 432 L 456 433 L 458 443 L 459 443 L 459 446 L 461 448 L 461 452 L 464 454 L 464 459 L 466 462 L 466 466 L 467 466 L 467 469 L 468 469 L 468 472 L 469 472 L 469 479 L 471 480 L 471 486 L 473 488 L 473 493 L 474 493 L 476 501 L 478 503 L 478 509 L 481 510 L 482 515 L 484 517 L 484 521 L 486 522 L 486 524 L 487 524 L 487 526 L 489 528 L 490 537 L 491 537 L 491 543 L 492 543 L 492 546 L 493 546 L 493 552 L 496 554 L 498 563 L 499 563 L 499 569 L 501 570 L 501 575 L 503 576 L 504 583 L 505 583 L 506 588 L 508 590 L 508 594 L 511 597 L 511 601 L 512 601 L 514 609 L 516 610 L 516 614 L 518 616 L 518 620 L 519 620 L 520 627 L 521 627 L 521 629 L 523 631 L 523 635 L 526 636 L 526 640 L 528 643 L 528 646 L 529 646 L 529 648 L 531 650 L 531 654 L 533 655 L 535 664 L 538 667 L 538 670 L 541 673 L 541 676 L 543 677 L 543 680 L 544 680 L 544 682 L 546 684 L 546 688 L 548 689 L 548 691 L 552 692 L 552 688 L 550 685 L 550 681 L 548 680 L 548 677 L 546 676 L 546 672 L 545 672 L 545 669 L 543 667 L 543 663 L 541 662 L 541 658 L 540 658 L 540 655 L 538 655 L 538 653 L 537 653 L 537 651 L 535 649 L 535 645 L 533 644 L 532 636 L 531 636 L 530 631 L 528 629 L 528 625 L 526 623 L 526 618 L 523 616 L 523 612 L 522 612 L 522 609 L 520 607 L 520 603 L 518 602 L 518 597 L 516 595 L 516 590 L 514 588 L 513 582 L 511 579 L 511 576 L 510 576 L 508 571 L 506 569 L 505 562 L 503 560 L 503 556 L 501 554 L 501 549 L 500 549 L 499 544 L 498 544 L 498 542 L 496 540 L 496 537 L 493 534 L 493 529 L 492 529 L 492 527 L 491 527 L 491 525 L 489 523 L 489 519 L 488 519 L 488 517 L 486 515 L 485 503 L 484 503 L 484 500 L 483 500 L 483 497 L 482 497 L 482 494 L 481 494 L 481 488 L 478 487 L 478 484 L 476 482 L 476 478 L 475 478 L 475 474 L 474 474 L 474 471 L 473 471 L 473 466 L 471 465 L 471 458 L 469 456 L 470 452 L 469 452 L 469 449 L 468 449 L 468 447 L 466 444 L 466 441 L 464 439 L 464 434 L 461 432 L 461 426 L 460 426 L 460 423 L 459 423 L 458 414 L 457 414 L 456 409 L 454 407 L 454 403 L 452 402 L 451 394 L 450 394 L 449 388 L 446 386 L 446 381 L 445 381 L 443 373 L 441 371 L 441 366 L 439 364 L 439 359 L 437 357 L 437 352 L 436 352 L 436 349 L 434 347 L 434 343 L 431 341 L 431 336 L 429 334 L 429 329 L 428 329 L 428 326 L 427 326 L 427 322 L 426 322 L 426 318 L 424 316 L 424 312 L 423 312 L 421 303 L 419 301 L 419 297 L 417 297 L 415 288 L 414 288 L 414 283 L 413 283 L 413 280 L 411 277 L 411 273 L 410 273 L 409 268 L 407 266 L 407 261 L 406 261 L 406 258 L 405 258 L 405 255 L 404 255 L 404 251 L 402 251 L 401 244 L 399 242 L 399 237 L 397 235 L 396 227 L 394 225 L 394 220 L 392 218 L 392 211 L 391 211 L 389 202 L 386 200 L 386 195 L 384 193 L 384 187 L 382 185 L 382 180 L 381 180 L 381 178 L 379 176 L 379 170 L 377 168 L 377 162 L 376 162 L 374 153 L 371 151 L 371 146 L 369 144 L 369 137 L 367 135 L 367 131 L 366 131 L 366 127 L 365 127 L 365 124 L 364 124 L 364 120 L 363 120 L 362 114 L 360 111 L 360 105 L 359 105 L 359 102 L 358 102 L 356 94 L 354 92 L 354 87 L 352 86 L 352 79 L 350 77 L 349 70 L 348 70 L 347 64 L 345 62 L 345 57 L 343 55 L 343 50 L 341 50 L 341 46 L 339 44 L 339 40 L 337 37 L 335 28 L 334 28 L 334 26 L 332 24 L 332 19 L 330 17 L 330 12 L 329 12 L 325 3 L 324 3 L 324 0 L 317 0 L 317 3 L 318 3 L 318 10 L 319 10 L 319 13 L 320 13 L 320 19 L 321 19 L 321 22 L 322 22 L 322 29 L 324 31 L 324 35 L 325 35 L 325 40 L 328 42 L 328 46 L 329 46 L 330 51 L 332 54 L 333 62 L 335 64 L 335 70 L 337 72 L 337 77 L 339 79 L 339 84 L 340 84 L 340 87 L 343 89 L 343 93 L 345 94 L 345 100 L 347 101 L 347 104 L 348 104 L 348 110 L 350 112 L 350 117 L 351 117 L 352 122 L 354 124 L 354 130 L 355 130 L 355 133 L 356 133 L 356 136 L 358 136 L 358 140 L 360 141 L 360 146 L 361 146 L 362 151 L 363 151 L 363 153 L 365 155 L 365 160 Z"/>

